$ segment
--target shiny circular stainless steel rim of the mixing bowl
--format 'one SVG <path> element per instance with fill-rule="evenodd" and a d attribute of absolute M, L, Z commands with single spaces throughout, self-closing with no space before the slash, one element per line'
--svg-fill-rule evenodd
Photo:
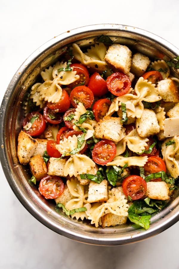
<path fill-rule="evenodd" d="M 46 227 L 50 228 L 51 230 L 55 231 L 56 233 L 63 235 L 67 238 L 76 240 L 78 242 L 88 243 L 88 244 L 95 244 L 95 245 L 105 245 L 105 246 L 112 246 L 112 245 L 123 245 L 123 244 L 130 244 L 134 242 L 139 242 L 144 239 L 150 238 L 162 231 L 166 230 L 173 224 L 175 224 L 179 220 L 179 204 L 176 204 L 175 208 L 171 208 L 170 217 L 161 219 L 158 221 L 158 225 L 152 224 L 151 228 L 146 231 L 140 231 L 140 233 L 136 233 L 131 236 L 118 236 L 118 235 L 111 235 L 107 236 L 103 234 L 102 236 L 98 233 L 90 234 L 90 233 L 82 233 L 82 231 L 71 229 L 70 227 L 61 227 L 58 222 L 55 222 L 51 219 L 50 215 L 45 214 L 43 211 L 40 211 L 38 206 L 34 203 L 30 203 L 23 195 L 21 195 L 21 190 L 17 186 L 16 182 L 13 181 L 13 174 L 10 170 L 10 166 L 7 159 L 7 154 L 5 152 L 5 137 L 4 137 L 4 126 L 5 126 L 5 110 L 7 98 L 10 97 L 10 94 L 13 91 L 17 81 L 20 79 L 21 74 L 26 70 L 26 68 L 36 59 L 37 55 L 43 53 L 43 51 L 47 50 L 48 48 L 52 47 L 56 43 L 60 42 L 61 40 L 70 38 L 75 36 L 79 33 L 85 32 L 92 32 L 96 30 L 106 30 L 106 31 L 126 31 L 128 33 L 134 33 L 143 36 L 143 38 L 147 40 L 151 40 L 157 42 L 162 47 L 165 47 L 174 55 L 179 55 L 179 49 L 176 48 L 174 45 L 166 41 L 165 39 L 157 36 L 149 31 L 127 26 L 127 25 L 119 25 L 119 24 L 98 24 L 98 25 L 87 25 L 83 27 L 78 27 L 73 30 L 61 33 L 58 36 L 55 36 L 53 39 L 50 39 L 43 45 L 41 45 L 36 51 L 34 51 L 25 61 L 24 63 L 18 68 L 16 74 L 13 76 L 10 84 L 7 87 L 7 90 L 4 94 L 4 98 L 1 103 L 0 108 L 0 118 L 1 118 L 1 126 L 0 126 L 0 144 L 1 144 L 1 155 L 0 161 L 1 166 L 4 171 L 5 177 L 13 190 L 14 194 L 21 202 L 21 204 L 29 211 L 31 215 L 33 215 L 38 221 L 44 224 Z M 165 212 L 165 210 L 163 211 Z M 162 217 L 163 218 L 163 217 Z M 97 228 L 98 229 L 98 228 Z M 105 228 L 106 229 L 106 228 Z"/>

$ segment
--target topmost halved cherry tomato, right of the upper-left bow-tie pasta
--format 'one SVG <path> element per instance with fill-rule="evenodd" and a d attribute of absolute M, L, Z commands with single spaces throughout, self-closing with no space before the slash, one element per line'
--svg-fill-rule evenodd
<path fill-rule="evenodd" d="M 71 64 L 70 67 L 73 67 L 73 71 L 76 71 L 76 75 L 79 75 L 80 78 L 75 82 L 68 85 L 70 88 L 74 88 L 83 83 L 83 85 L 87 85 L 89 81 L 89 72 L 88 69 L 79 63 Z"/>

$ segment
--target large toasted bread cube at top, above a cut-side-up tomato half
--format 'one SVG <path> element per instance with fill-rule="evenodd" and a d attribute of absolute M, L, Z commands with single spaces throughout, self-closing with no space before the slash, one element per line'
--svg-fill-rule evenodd
<path fill-rule="evenodd" d="M 128 47 L 120 44 L 113 44 L 109 47 L 105 61 L 114 71 L 122 71 L 129 74 L 132 62 L 132 52 Z"/>

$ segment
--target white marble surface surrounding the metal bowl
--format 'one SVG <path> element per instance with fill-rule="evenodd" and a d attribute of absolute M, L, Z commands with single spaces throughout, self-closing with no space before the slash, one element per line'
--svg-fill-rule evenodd
<path fill-rule="evenodd" d="M 179 47 L 179 1 L 0 1 L 0 102 L 13 74 L 40 45 L 83 25 L 119 23 L 153 32 Z M 119 247 L 85 245 L 39 223 L 1 173 L 0 268 L 179 268 L 179 223 L 146 241 Z"/>

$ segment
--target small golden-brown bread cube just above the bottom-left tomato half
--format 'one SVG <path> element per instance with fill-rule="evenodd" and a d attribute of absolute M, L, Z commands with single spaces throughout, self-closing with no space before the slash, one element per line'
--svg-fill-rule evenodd
<path fill-rule="evenodd" d="M 47 175 L 47 166 L 41 155 L 36 155 L 30 158 L 29 161 L 30 171 L 37 181 L 40 181 Z"/>

